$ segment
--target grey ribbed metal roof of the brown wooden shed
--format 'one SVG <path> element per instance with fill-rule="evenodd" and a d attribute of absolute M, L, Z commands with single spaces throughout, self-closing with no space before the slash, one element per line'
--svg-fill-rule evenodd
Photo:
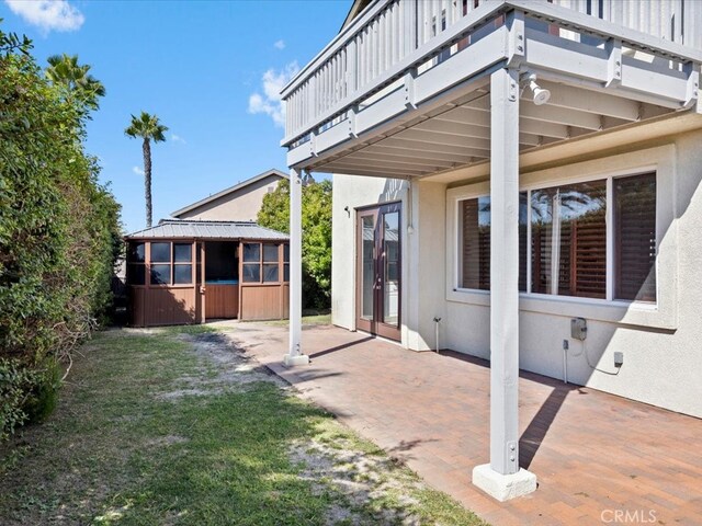
<path fill-rule="evenodd" d="M 125 236 L 127 239 L 271 239 L 287 240 L 286 233 L 253 221 L 196 221 L 161 219 L 151 228 Z"/>

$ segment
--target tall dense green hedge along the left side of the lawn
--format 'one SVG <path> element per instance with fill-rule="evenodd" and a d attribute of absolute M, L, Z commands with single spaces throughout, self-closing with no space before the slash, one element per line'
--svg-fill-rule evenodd
<path fill-rule="evenodd" d="M 91 103 L 66 90 L 0 31 L 0 438 L 50 410 L 112 299 L 120 206 L 83 149 Z"/>

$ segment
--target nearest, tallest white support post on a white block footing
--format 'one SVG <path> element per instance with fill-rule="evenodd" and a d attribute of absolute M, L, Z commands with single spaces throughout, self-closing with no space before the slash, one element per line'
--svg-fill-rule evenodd
<path fill-rule="evenodd" d="M 519 467 L 519 71 L 490 78 L 490 464 L 473 483 L 499 501 L 531 493 Z"/>

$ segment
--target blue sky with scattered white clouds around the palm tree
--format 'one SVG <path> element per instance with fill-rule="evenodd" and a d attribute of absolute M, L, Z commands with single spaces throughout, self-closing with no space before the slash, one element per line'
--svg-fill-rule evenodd
<path fill-rule="evenodd" d="M 145 226 L 144 176 L 140 140 L 124 135 L 129 115 L 156 113 L 170 128 L 152 148 L 155 221 L 269 168 L 286 170 L 274 92 L 333 38 L 350 5 L 3 1 L 0 18 L 4 32 L 34 41 L 41 65 L 77 54 L 105 85 L 87 148 L 134 231 Z"/>

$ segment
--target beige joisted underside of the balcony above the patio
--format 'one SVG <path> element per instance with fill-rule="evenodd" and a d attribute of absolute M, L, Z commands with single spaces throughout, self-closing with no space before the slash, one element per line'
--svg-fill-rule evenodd
<path fill-rule="evenodd" d="M 540 80 L 539 85 L 551 92 L 546 104 L 535 105 L 528 89 L 521 93 L 519 136 L 522 155 L 581 144 L 582 139 L 604 133 L 629 130 L 632 134 L 636 126 L 680 115 L 680 112 L 660 105 L 553 81 Z M 702 117 L 697 125 L 702 126 Z M 660 129 L 669 133 L 670 127 Z M 635 133 L 631 136 L 635 137 Z M 403 122 L 398 119 L 395 126 L 386 126 L 365 140 L 319 156 L 306 169 L 450 181 L 451 176 L 435 176 L 486 163 L 489 158 L 490 93 L 488 83 L 483 81 L 468 94 L 426 114 Z"/>

